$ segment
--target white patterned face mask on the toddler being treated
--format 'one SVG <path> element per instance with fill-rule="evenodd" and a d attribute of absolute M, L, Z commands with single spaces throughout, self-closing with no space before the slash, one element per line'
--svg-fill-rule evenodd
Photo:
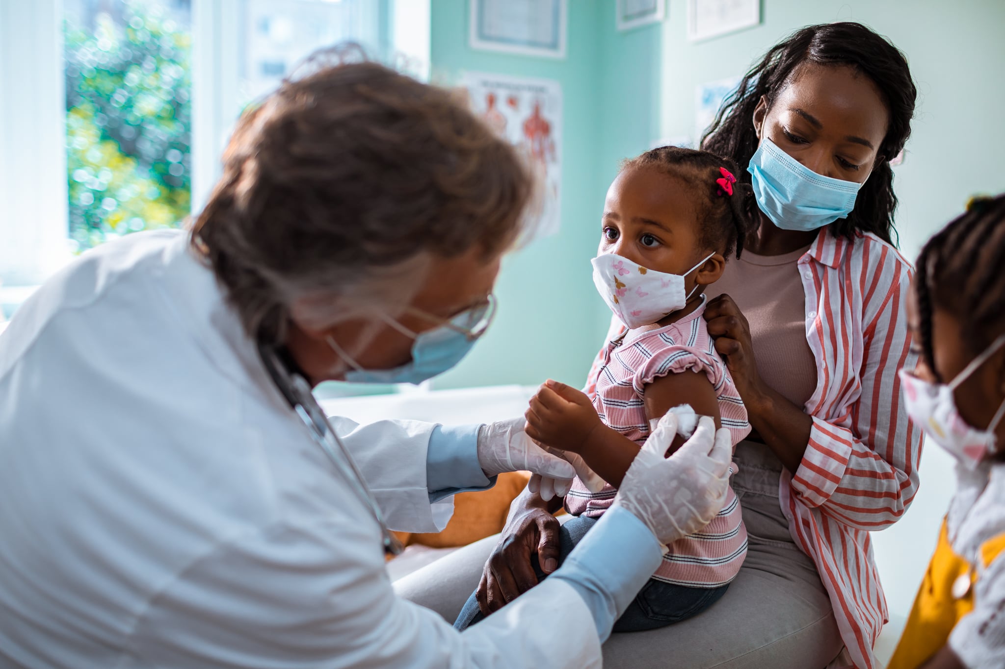
<path fill-rule="evenodd" d="M 593 284 L 614 315 L 629 330 L 655 323 L 683 309 L 690 293 L 684 293 L 684 278 L 715 256 L 713 252 L 683 274 L 665 274 L 640 267 L 613 253 L 597 256 L 593 263 Z"/>

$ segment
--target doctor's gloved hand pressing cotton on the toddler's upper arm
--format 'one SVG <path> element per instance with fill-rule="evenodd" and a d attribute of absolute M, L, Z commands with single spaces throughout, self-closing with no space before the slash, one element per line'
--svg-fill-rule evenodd
<path fill-rule="evenodd" d="M 642 521 L 656 540 L 672 544 L 709 525 L 726 503 L 733 442 L 702 416 L 694 434 L 669 457 L 678 416 L 666 413 L 625 473 L 614 498 Z"/>

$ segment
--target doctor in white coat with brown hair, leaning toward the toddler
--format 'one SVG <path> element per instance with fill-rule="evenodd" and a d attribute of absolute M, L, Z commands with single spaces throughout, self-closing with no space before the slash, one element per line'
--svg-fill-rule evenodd
<path fill-rule="evenodd" d="M 530 179 L 450 93 L 372 63 L 283 84 L 224 161 L 191 233 L 85 254 L 0 336 L 0 666 L 599 666 L 661 544 L 721 509 L 728 434 L 664 458 L 661 424 L 566 564 L 454 631 L 395 597 L 388 529 L 572 467 L 520 421 L 328 421 L 310 388 L 456 363 Z"/>

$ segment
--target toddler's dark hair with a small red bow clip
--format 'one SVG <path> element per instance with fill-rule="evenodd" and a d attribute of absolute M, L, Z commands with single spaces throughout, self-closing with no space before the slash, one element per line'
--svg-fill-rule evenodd
<path fill-rule="evenodd" d="M 705 248 L 717 249 L 727 257 L 736 250 L 737 258 L 740 258 L 744 240 L 753 228 L 750 212 L 754 192 L 750 184 L 740 181 L 730 184 L 732 193 L 723 190 L 719 183 L 724 179 L 722 169 L 725 168 L 739 180 L 740 173 L 733 160 L 709 151 L 660 146 L 625 160 L 621 163 L 621 171 L 643 166 L 656 168 L 700 194 L 698 219 L 702 225 L 699 243 Z"/>

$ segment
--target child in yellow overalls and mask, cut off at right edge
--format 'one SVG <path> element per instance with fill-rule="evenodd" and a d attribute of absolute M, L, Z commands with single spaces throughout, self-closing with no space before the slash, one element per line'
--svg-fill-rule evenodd
<path fill-rule="evenodd" d="M 908 413 L 957 460 L 957 491 L 889 669 L 1005 667 L 1005 195 L 925 245 L 908 320 Z"/>

